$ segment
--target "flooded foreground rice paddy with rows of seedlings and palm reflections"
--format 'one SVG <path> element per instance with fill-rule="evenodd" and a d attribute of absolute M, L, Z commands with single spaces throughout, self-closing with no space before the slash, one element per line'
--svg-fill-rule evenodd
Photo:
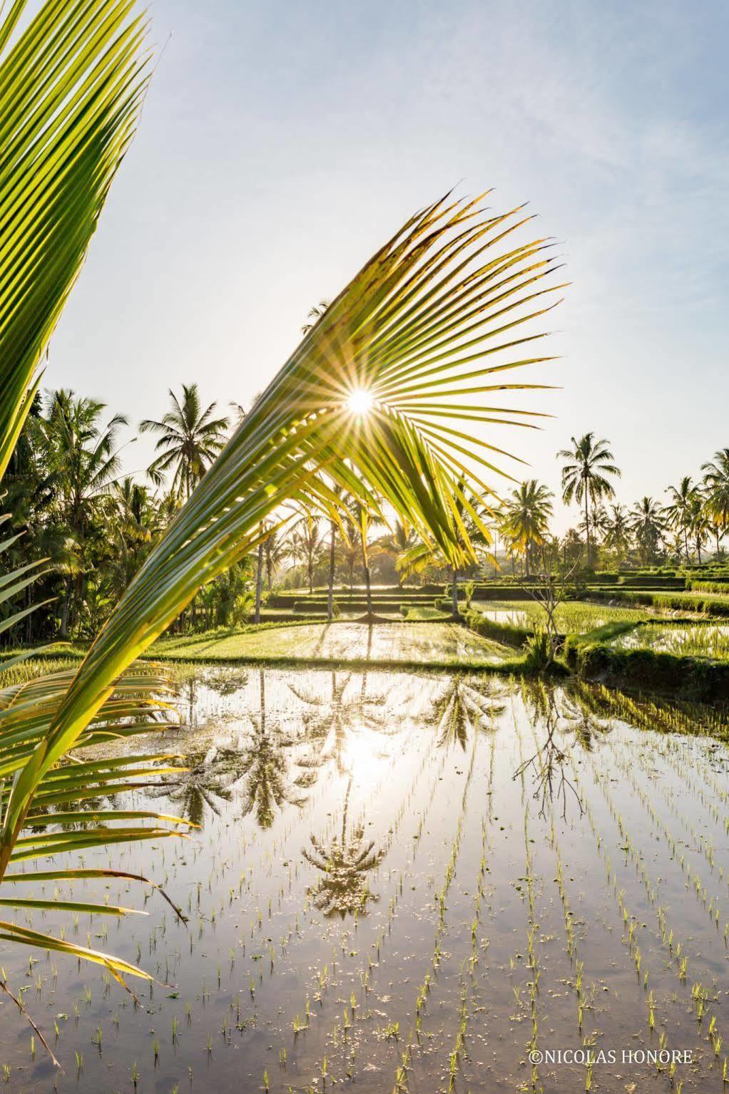
<path fill-rule="evenodd" d="M 8 1000 L 8 1090 L 722 1091 L 719 714 L 495 676 L 180 675 L 186 724 L 137 747 L 188 772 L 135 800 L 199 828 L 112 865 L 188 922 L 128 883 L 73 893 L 146 917 L 44 917 L 153 973 L 138 1002 L 0 942 L 66 1069 Z M 606 1062 L 529 1059 L 587 1049 Z"/>

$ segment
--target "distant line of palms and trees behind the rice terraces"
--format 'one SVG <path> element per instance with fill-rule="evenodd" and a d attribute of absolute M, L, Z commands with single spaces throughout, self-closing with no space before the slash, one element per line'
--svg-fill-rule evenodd
<path fill-rule="evenodd" d="M 160 420 L 147 419 L 140 433 L 155 437 L 155 453 L 142 481 L 123 474 L 121 415 L 71 391 L 36 396 L 5 476 L 0 501 L 11 514 L 16 537 L 4 555 L 10 572 L 45 560 L 45 572 L 26 586 L 20 603 L 39 607 L 0 635 L 5 642 L 88 638 L 143 563 L 178 509 L 223 447 L 244 414 L 205 405 L 197 384 L 170 392 Z M 130 442 L 129 442 L 130 443 Z M 729 449 L 703 464 L 696 478 L 684 476 L 667 489 L 666 503 L 651 497 L 626 507 L 615 500 L 621 470 L 609 442 L 593 433 L 571 439 L 560 451 L 562 498 L 580 517 L 564 536 L 551 535 L 554 496 L 544 484 L 526 479 L 502 499 L 463 494 L 459 520 L 479 551 L 478 565 L 456 577 L 496 572 L 496 560 L 529 577 L 544 558 L 544 545 L 565 563 L 597 568 L 691 565 L 713 554 L 724 557 L 729 528 Z M 465 486 L 463 486 L 465 490 Z M 262 528 L 258 549 L 206 585 L 176 624 L 180 629 L 210 629 L 261 617 L 262 603 L 275 586 L 334 589 L 404 581 L 451 581 L 452 571 L 431 545 L 389 521 L 382 510 L 337 491 L 336 513 L 300 505 L 280 524 Z M 375 499 L 377 501 L 377 499 Z"/>

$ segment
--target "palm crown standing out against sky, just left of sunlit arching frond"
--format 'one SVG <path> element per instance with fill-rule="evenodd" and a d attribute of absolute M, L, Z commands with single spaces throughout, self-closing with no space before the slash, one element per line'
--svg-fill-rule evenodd
<path fill-rule="evenodd" d="M 160 434 L 155 444 L 160 455 L 150 464 L 149 476 L 160 484 L 165 472 L 173 470 L 173 490 L 187 499 L 224 446 L 230 422 L 213 417 L 215 403 L 202 410 L 197 384 L 183 384 L 182 389 L 181 401 L 170 388 L 172 409 L 161 421 L 146 418 L 139 430 Z"/>

